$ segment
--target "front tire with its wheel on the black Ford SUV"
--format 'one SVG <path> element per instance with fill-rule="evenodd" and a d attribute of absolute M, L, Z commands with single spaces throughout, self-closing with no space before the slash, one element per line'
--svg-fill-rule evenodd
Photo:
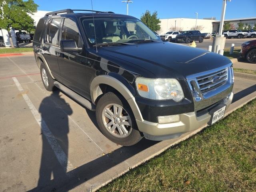
<path fill-rule="evenodd" d="M 116 114 L 114 113 L 114 106 L 116 107 Z M 122 108 L 122 111 L 118 115 L 120 108 Z M 126 120 L 122 120 L 124 117 L 126 117 Z M 96 119 L 102 134 L 116 144 L 131 146 L 142 139 L 130 106 L 118 94 L 108 92 L 98 100 Z M 123 122 L 126 123 L 124 124 Z M 107 127 L 107 125 L 109 126 Z M 118 127 L 119 129 L 122 127 L 122 130 L 125 131 L 118 130 Z M 114 129 L 111 130 L 111 128 Z"/>

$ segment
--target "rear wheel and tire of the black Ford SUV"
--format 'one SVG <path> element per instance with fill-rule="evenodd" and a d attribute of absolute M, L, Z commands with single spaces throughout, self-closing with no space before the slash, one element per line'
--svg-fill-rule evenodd
<path fill-rule="evenodd" d="M 40 74 L 41 74 L 41 79 L 44 84 L 44 88 L 48 91 L 53 91 L 54 90 L 54 79 L 51 77 L 50 73 L 48 72 L 48 69 L 46 68 L 45 64 L 41 62 L 40 66 Z"/>

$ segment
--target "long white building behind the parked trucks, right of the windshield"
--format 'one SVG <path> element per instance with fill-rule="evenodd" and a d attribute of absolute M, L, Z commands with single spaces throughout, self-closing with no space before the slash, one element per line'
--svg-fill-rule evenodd
<path fill-rule="evenodd" d="M 161 21 L 161 29 L 159 31 L 160 34 L 164 34 L 170 30 L 175 29 L 176 22 L 176 30 L 186 31 L 186 30 L 194 30 L 195 26 L 197 26 L 197 30 L 200 30 L 201 33 L 212 33 L 212 22 L 216 22 L 217 20 L 212 19 L 198 19 L 196 23 L 196 19 L 190 18 L 170 18 L 170 19 L 160 19 Z"/>

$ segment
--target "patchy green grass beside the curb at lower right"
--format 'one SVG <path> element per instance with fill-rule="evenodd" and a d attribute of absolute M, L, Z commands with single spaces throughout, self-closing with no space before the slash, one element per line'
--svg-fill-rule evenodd
<path fill-rule="evenodd" d="M 256 100 L 99 191 L 256 191 Z"/>

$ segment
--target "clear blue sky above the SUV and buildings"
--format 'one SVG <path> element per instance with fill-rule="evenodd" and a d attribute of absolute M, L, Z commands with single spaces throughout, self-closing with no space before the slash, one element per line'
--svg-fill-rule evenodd
<path fill-rule="evenodd" d="M 34 0 L 38 10 L 54 11 L 66 8 L 91 9 L 91 0 Z M 113 11 L 126 14 L 126 3 L 122 0 L 92 0 L 94 10 Z M 132 0 L 129 15 L 140 18 L 143 12 L 158 12 L 163 18 L 216 17 L 220 20 L 222 0 Z M 227 3 L 225 19 L 256 17 L 256 0 L 231 0 Z"/>

